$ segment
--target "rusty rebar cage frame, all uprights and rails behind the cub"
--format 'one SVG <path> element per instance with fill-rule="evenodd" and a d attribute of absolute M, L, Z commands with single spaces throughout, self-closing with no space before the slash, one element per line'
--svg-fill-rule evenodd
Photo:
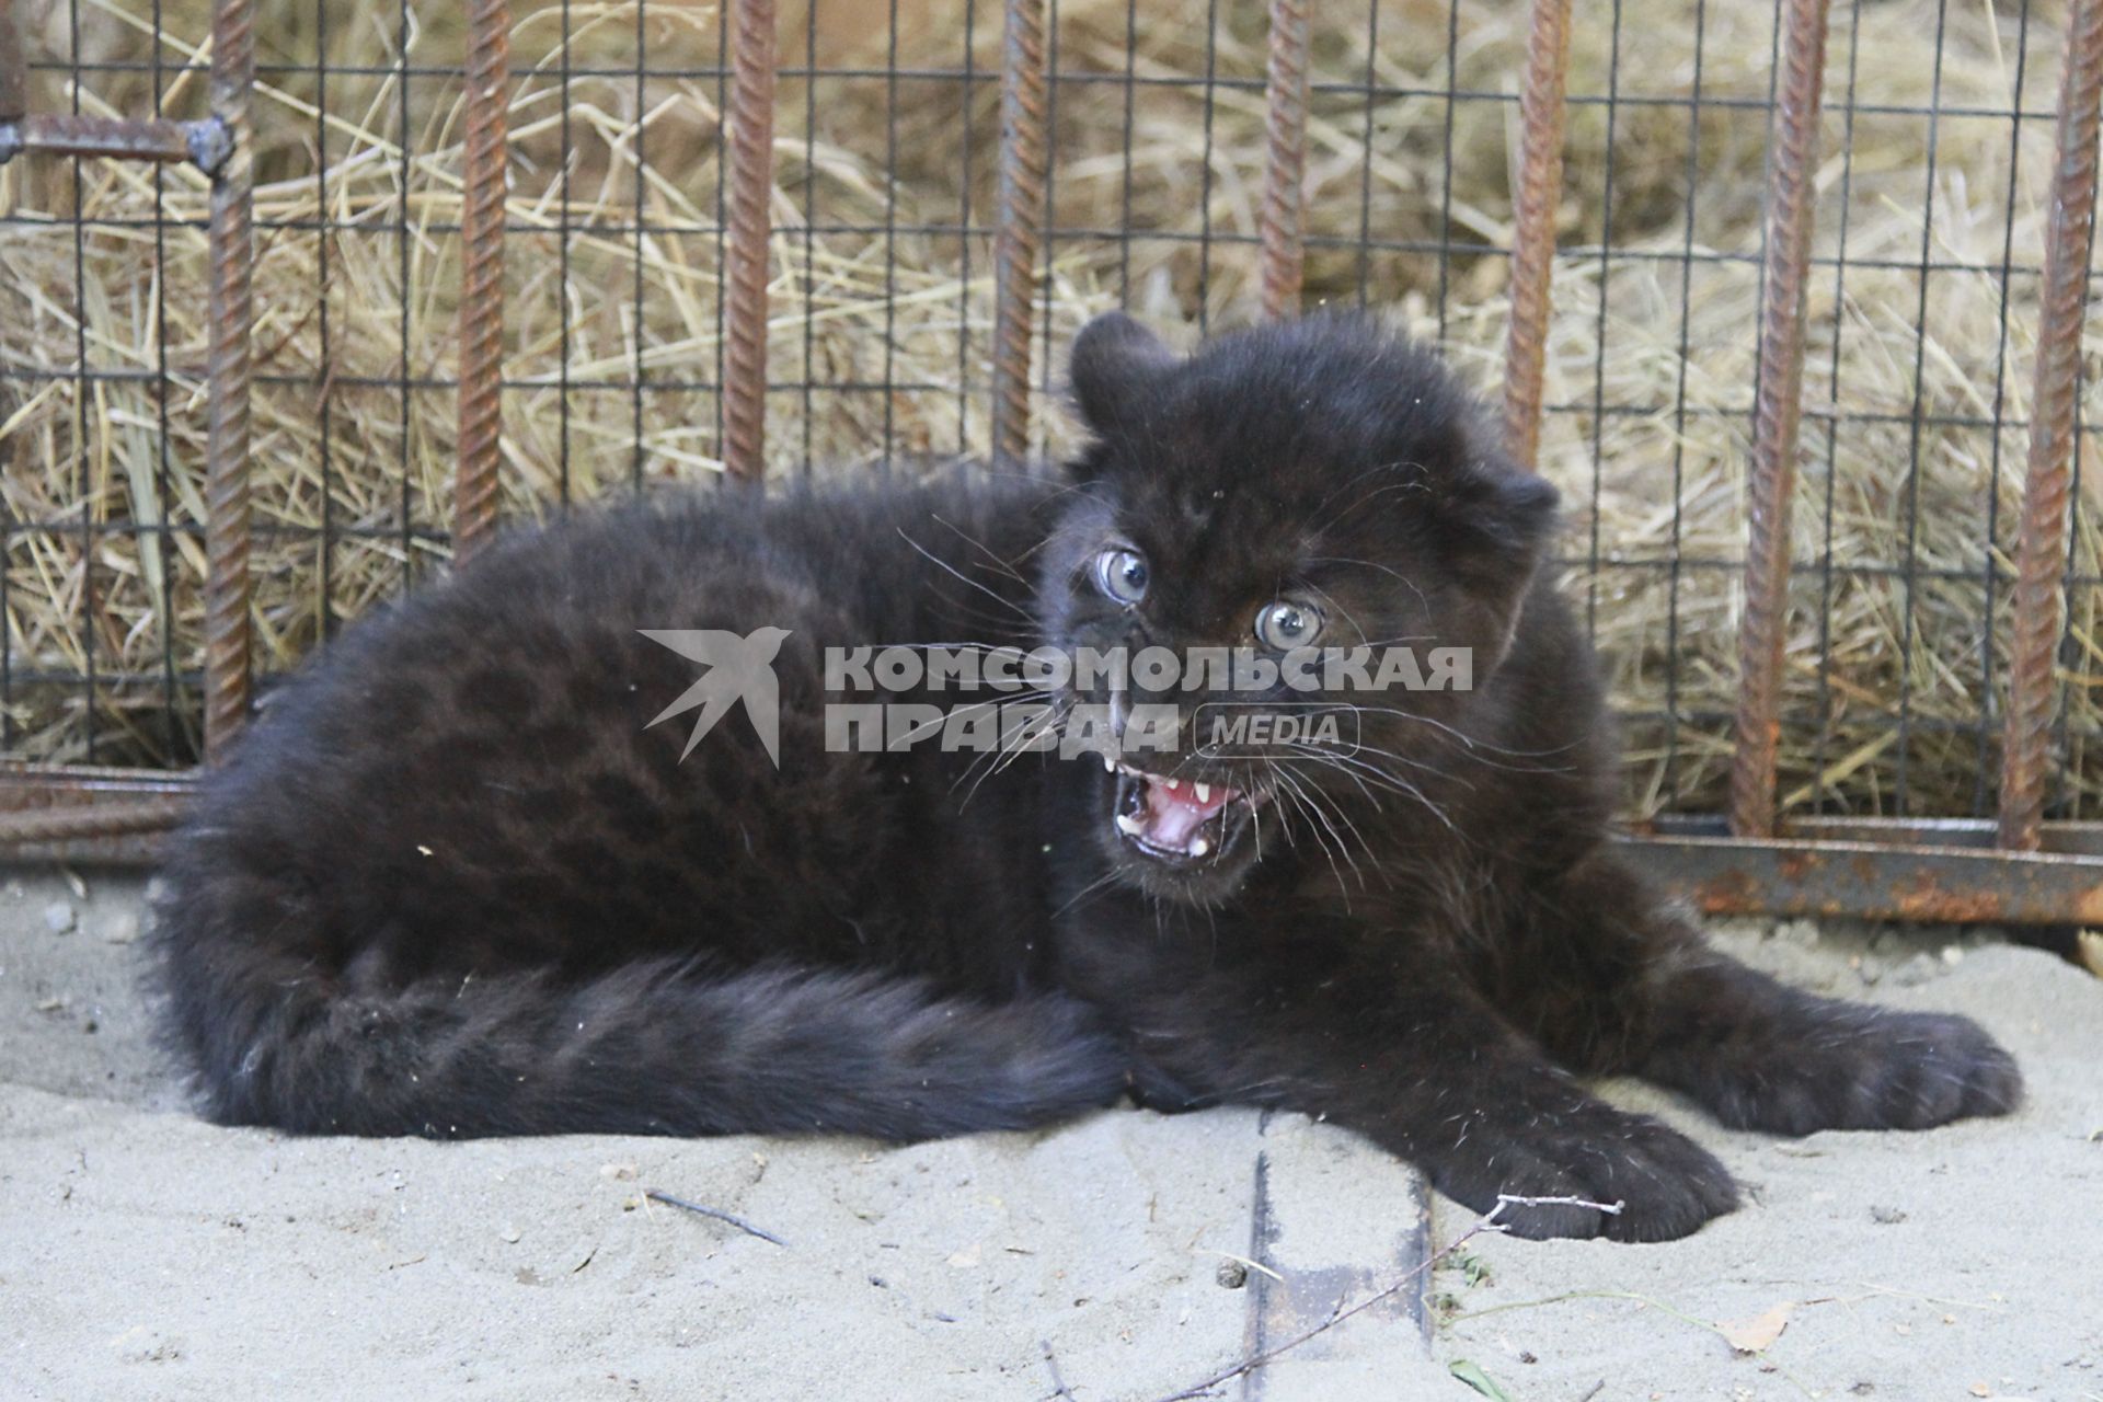
<path fill-rule="evenodd" d="M 2015 595 L 2006 765 L 1998 820 L 1849 820 L 1775 816 L 1779 647 L 1790 572 L 1788 511 L 1804 355 L 1804 273 L 1830 0 L 1781 0 L 1781 74 L 1771 122 L 1760 383 L 1748 471 L 1745 675 L 1731 809 L 1666 818 L 1626 839 L 1668 885 L 1716 914 L 1851 914 L 1914 921 L 2103 923 L 2103 824 L 2042 822 L 2055 713 L 2053 662 L 2065 618 L 2067 494 L 2074 471 L 2080 332 L 2095 219 L 2103 0 L 2074 0 L 2059 99 L 2053 221 L 2038 334 L 2023 540 Z M 0 0 L 0 160 L 107 156 L 193 162 L 212 179 L 210 368 L 206 465 L 206 752 L 225 755 L 248 713 L 248 99 L 254 74 L 250 0 L 219 0 L 212 19 L 210 116 L 118 122 L 32 116 L 23 55 Z M 496 521 L 501 462 L 507 0 L 469 11 L 458 315 L 461 465 L 454 483 L 461 559 Z M 774 0 L 734 0 L 726 177 L 723 465 L 757 481 L 765 458 L 768 267 Z M 1049 74 L 1045 2 L 1005 0 L 1001 61 L 999 227 L 995 235 L 993 452 L 1018 460 L 1030 441 L 1030 328 L 1041 282 Z M 1520 92 L 1512 202 L 1512 315 L 1504 351 L 1508 452 L 1535 467 L 1541 383 L 1563 195 L 1569 0 L 1533 0 Z M 1306 0 L 1270 0 L 1266 168 L 1260 204 L 1260 305 L 1298 311 L 1304 269 L 1308 143 Z M 19 858 L 145 860 L 181 811 L 193 776 L 0 765 L 0 851 Z"/>

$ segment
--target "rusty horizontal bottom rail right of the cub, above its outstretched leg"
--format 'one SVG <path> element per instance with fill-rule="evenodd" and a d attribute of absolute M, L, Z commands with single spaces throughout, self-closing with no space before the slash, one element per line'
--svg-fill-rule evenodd
<path fill-rule="evenodd" d="M 2092 855 L 1718 837 L 1632 837 L 1626 847 L 1703 914 L 2103 923 L 2103 858 Z"/>

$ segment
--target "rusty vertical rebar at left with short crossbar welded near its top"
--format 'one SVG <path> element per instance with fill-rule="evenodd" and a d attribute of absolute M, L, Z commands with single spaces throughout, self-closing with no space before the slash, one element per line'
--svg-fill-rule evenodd
<path fill-rule="evenodd" d="M 225 759 L 248 719 L 248 332 L 254 319 L 250 265 L 250 130 L 254 23 L 248 0 L 212 6 L 212 116 L 229 153 L 212 177 L 210 357 L 204 448 L 204 752 Z"/>

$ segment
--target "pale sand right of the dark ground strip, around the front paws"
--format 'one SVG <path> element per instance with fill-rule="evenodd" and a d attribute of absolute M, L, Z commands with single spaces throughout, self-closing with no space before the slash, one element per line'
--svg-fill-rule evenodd
<path fill-rule="evenodd" d="M 1971 1013 L 2015 1051 L 2027 1106 L 1920 1135 L 1771 1139 L 1611 1085 L 1714 1150 L 1750 1202 L 1661 1246 L 1476 1238 L 1472 1270 L 1436 1272 L 1438 1356 L 1527 1402 L 2103 1402 L 2103 982 L 1949 931 L 1794 923 L 1718 942 L 1819 992 Z M 1441 1207 L 1447 1242 L 1464 1213 Z M 1762 1352 L 1724 1339 L 1775 1310 L 1785 1326 Z"/>

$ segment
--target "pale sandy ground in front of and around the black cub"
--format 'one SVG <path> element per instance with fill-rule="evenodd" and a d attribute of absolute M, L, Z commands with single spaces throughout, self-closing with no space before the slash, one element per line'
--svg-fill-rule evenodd
<path fill-rule="evenodd" d="M 902 1150 L 215 1129 L 147 1038 L 139 881 L 0 877 L 8 1398 L 1043 1400 L 1049 1345 L 1077 1402 L 1144 1400 L 1472 1221 L 1438 1202 L 1426 1228 L 1386 1156 L 1247 1112 Z M 1945 954 L 1947 933 L 1722 940 L 1806 986 L 1973 1013 L 2021 1057 L 2029 1106 L 1775 1141 L 1609 1087 L 1720 1152 L 1745 1211 L 1663 1246 L 1476 1236 L 1428 1280 L 1428 1349 L 1403 1291 L 1266 1368 L 1260 1396 L 2103 1400 L 2103 984 L 1977 937 Z M 1762 1352 L 1731 1347 L 1720 1326 L 1775 1310 Z"/>

